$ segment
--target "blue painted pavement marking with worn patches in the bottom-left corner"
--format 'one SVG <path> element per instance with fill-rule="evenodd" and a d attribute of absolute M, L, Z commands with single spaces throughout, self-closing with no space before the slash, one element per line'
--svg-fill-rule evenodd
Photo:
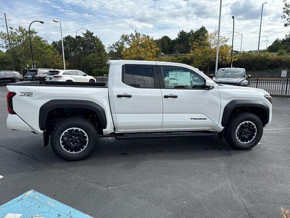
<path fill-rule="evenodd" d="M 92 218 L 34 190 L 0 206 L 0 218 Z"/>

